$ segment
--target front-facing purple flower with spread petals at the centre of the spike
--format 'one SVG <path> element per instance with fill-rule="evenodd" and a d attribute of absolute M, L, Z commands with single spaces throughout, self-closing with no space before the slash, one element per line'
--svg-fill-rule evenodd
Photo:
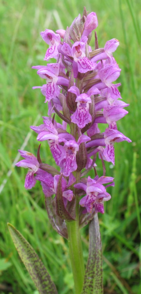
<path fill-rule="evenodd" d="M 98 88 L 91 88 L 87 94 L 80 94 L 79 89 L 75 86 L 70 87 L 68 91 L 77 96 L 75 100 L 75 102 L 77 102 L 77 109 L 71 116 L 71 121 L 76 123 L 79 128 L 83 128 L 87 123 L 92 121 L 92 116 L 89 113 L 89 104 L 91 103 L 90 96 L 99 94 L 100 91 Z"/>

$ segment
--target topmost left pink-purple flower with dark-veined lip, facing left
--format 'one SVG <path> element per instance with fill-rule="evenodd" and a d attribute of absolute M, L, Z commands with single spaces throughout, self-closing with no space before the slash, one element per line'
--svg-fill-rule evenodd
<path fill-rule="evenodd" d="M 50 58 L 56 58 L 58 56 L 58 46 L 60 44 L 61 38 L 59 34 L 55 34 L 52 30 L 46 29 L 41 32 L 43 40 L 49 45 L 46 51 L 44 60 L 49 60 Z"/>

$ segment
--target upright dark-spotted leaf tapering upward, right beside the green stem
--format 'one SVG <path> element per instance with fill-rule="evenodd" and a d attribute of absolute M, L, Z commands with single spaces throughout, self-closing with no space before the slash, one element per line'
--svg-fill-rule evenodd
<path fill-rule="evenodd" d="M 89 224 L 89 256 L 81 294 L 87 293 L 103 294 L 102 245 L 97 213 Z"/>

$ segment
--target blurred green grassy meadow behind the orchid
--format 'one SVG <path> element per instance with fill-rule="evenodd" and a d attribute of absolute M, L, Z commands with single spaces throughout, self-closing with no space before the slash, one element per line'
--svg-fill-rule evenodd
<path fill-rule="evenodd" d="M 103 243 L 104 293 L 140 294 L 141 260 L 141 6 L 131 0 L 13 0 L 1 1 L 1 118 L 0 118 L 0 293 L 38 294 L 11 241 L 7 222 L 12 223 L 31 243 L 57 285 L 58 293 L 72 294 L 68 245 L 53 231 L 45 210 L 39 183 L 24 189 L 27 170 L 15 168 L 17 149 L 36 154 L 38 143 L 30 125 L 42 123 L 47 105 L 33 65 L 46 65 L 46 43 L 40 32 L 46 28 L 66 29 L 83 13 L 83 6 L 98 16 L 99 47 L 117 38 L 120 46 L 114 57 L 122 69 L 119 81 L 129 114 L 117 123 L 132 143 L 115 144 L 115 167 L 106 164 L 106 175 L 115 177 L 112 199 L 99 214 Z M 91 41 L 94 46 L 94 36 Z M 41 146 L 43 161 L 53 165 L 46 142 Z M 99 165 L 99 163 L 98 163 Z M 98 168 L 102 175 L 101 166 Z M 91 173 L 91 176 L 94 176 Z M 88 256 L 88 227 L 82 230 L 85 261 Z"/>

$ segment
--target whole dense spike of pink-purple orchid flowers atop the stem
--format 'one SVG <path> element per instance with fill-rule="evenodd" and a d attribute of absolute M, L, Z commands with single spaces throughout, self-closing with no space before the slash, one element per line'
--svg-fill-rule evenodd
<path fill-rule="evenodd" d="M 116 124 L 116 121 L 128 113 L 124 109 L 128 104 L 120 100 L 120 83 L 115 82 L 121 71 L 113 57 L 119 41 L 111 39 L 105 43 L 104 48 L 98 48 L 95 34 L 95 50 L 89 42 L 91 32 L 97 26 L 96 13 L 87 15 L 84 8 L 83 17 L 79 14 L 66 30 L 57 30 L 55 33 L 46 29 L 41 32 L 43 40 L 49 45 L 44 60 L 55 58 L 57 61 L 44 66 L 33 66 L 37 69 L 37 74 L 46 80 L 45 84 L 33 89 L 41 89 L 45 102 L 48 102 L 49 117 L 43 116 L 43 123 L 40 126 L 31 126 L 31 129 L 38 134 L 37 141 L 48 142 L 60 170 L 51 169 L 48 164 L 39 164 L 40 148 L 37 153 L 39 162 L 33 154 L 20 151 L 25 159 L 17 163 L 17 166 L 28 168 L 25 187 L 31 188 L 36 180 L 41 181 L 46 197 L 56 194 L 58 181 L 58 191 L 61 191 L 59 187 L 62 183 L 65 205 L 62 214 L 59 212 L 60 207 L 56 211 L 59 218 L 63 215 L 66 220 L 73 219 L 69 215 L 69 209 L 72 211 L 71 204 L 74 201 L 69 206 L 66 204 L 73 199 L 73 185 L 78 181 L 78 176 L 80 183 L 74 187 L 81 189 L 78 191 L 79 195 L 86 193 L 80 200 L 80 205 L 85 208 L 83 213 L 104 213 L 103 203 L 111 196 L 103 185 L 108 182 L 113 185 L 113 178 L 83 177 L 92 168 L 95 173 L 98 170 L 97 162 L 95 163 L 97 154 L 102 165 L 103 160 L 114 164 L 114 143 L 124 140 L 131 142 L 117 130 Z M 56 115 L 63 122 L 57 123 Z M 103 125 L 99 127 L 98 123 Z M 108 124 L 108 128 L 105 124 Z M 60 172 L 63 174 L 61 178 Z M 73 172 L 76 173 L 76 178 Z M 105 175 L 104 165 L 103 174 Z M 61 194 L 58 195 L 60 197 Z"/>

